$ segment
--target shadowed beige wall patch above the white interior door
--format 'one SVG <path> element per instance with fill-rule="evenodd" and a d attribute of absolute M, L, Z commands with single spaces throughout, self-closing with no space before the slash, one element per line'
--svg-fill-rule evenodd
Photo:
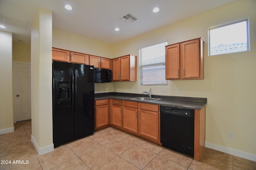
<path fill-rule="evenodd" d="M 31 51 L 30 44 L 12 42 L 12 60 L 30 63 Z"/>

